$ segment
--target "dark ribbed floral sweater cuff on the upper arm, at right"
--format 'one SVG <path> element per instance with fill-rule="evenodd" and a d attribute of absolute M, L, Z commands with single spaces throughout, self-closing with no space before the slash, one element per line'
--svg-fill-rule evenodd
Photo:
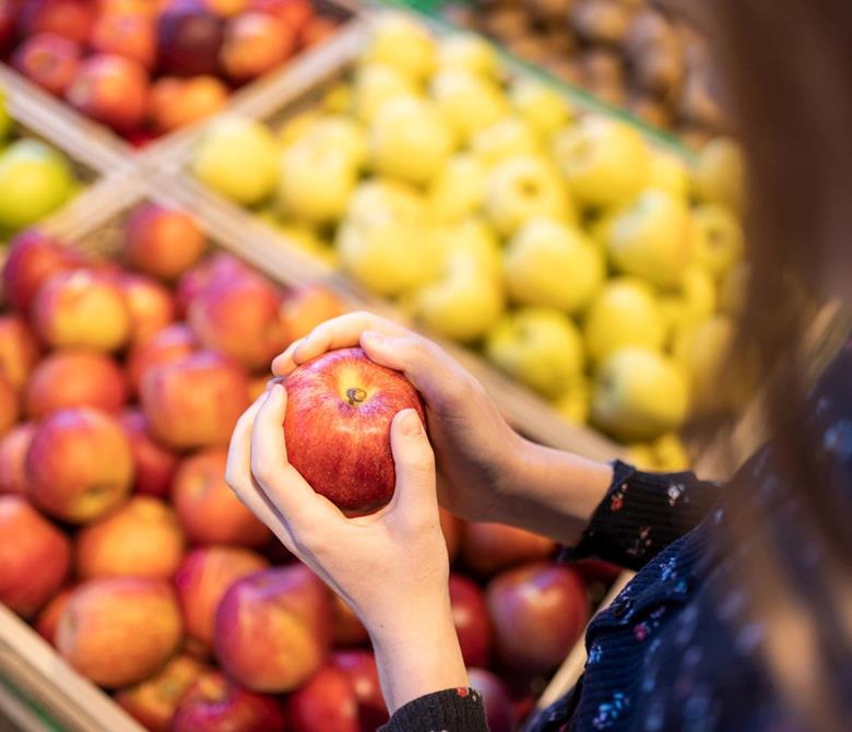
<path fill-rule="evenodd" d="M 567 560 L 597 557 L 641 569 L 676 539 L 698 526 L 721 497 L 718 483 L 693 473 L 643 473 L 620 461 L 613 483 Z"/>

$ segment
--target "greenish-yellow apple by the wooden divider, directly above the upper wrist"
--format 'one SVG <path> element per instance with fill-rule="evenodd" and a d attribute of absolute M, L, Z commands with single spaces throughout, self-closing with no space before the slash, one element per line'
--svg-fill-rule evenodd
<path fill-rule="evenodd" d="M 486 339 L 492 363 L 548 399 L 564 394 L 583 370 L 583 344 L 559 310 L 526 307 L 506 314 Z"/>

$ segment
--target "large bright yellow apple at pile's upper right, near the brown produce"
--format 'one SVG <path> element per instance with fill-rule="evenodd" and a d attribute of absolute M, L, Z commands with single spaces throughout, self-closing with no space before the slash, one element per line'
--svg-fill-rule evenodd
<path fill-rule="evenodd" d="M 573 198 L 590 209 L 630 201 L 651 174 L 651 153 L 642 137 L 601 117 L 584 117 L 559 132 L 554 155 Z"/>

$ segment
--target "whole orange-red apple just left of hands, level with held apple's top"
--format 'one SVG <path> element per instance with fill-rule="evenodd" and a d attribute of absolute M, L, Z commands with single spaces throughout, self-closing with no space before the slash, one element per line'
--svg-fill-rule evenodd
<path fill-rule="evenodd" d="M 202 351 L 149 370 L 140 388 L 151 434 L 175 449 L 227 445 L 249 406 L 248 378 L 236 364 Z"/>

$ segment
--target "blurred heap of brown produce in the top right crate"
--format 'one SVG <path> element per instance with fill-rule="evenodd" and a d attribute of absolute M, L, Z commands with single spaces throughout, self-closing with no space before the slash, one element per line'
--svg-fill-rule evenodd
<path fill-rule="evenodd" d="M 447 13 L 690 144 L 724 129 L 707 45 L 650 0 L 472 0 Z"/>

